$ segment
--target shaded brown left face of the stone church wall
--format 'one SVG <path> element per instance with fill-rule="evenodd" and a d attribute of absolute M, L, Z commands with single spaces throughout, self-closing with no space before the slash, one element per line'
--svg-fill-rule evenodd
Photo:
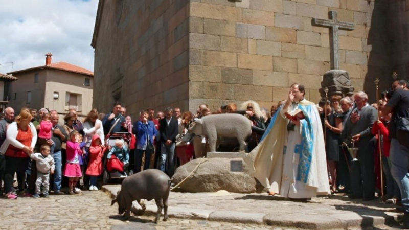
<path fill-rule="evenodd" d="M 100 2 L 94 106 L 108 112 L 120 100 L 133 116 L 147 107 L 187 109 L 189 1 Z"/>

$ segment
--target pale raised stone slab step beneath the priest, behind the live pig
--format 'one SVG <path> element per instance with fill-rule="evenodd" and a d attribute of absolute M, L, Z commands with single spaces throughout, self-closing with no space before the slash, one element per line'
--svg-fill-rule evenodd
<path fill-rule="evenodd" d="M 115 198 L 120 185 L 104 186 Z M 266 194 L 181 193 L 169 195 L 169 216 L 181 219 L 265 224 L 277 227 L 302 229 L 351 229 L 396 225 L 402 214 L 394 212 L 395 206 L 378 200 L 350 200 L 333 195 L 312 198 L 308 202 L 293 201 Z M 154 201 L 145 201 L 146 212 L 156 213 Z M 135 209 L 140 208 L 134 202 Z"/>

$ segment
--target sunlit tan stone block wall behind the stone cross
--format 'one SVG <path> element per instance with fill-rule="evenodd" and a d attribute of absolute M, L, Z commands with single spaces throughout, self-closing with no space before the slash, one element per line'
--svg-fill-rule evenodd
<path fill-rule="evenodd" d="M 369 38 L 371 22 L 385 19 L 382 12 L 372 14 L 375 8 L 366 0 L 191 1 L 190 110 L 249 99 L 268 107 L 285 99 L 294 82 L 305 84 L 307 99 L 319 101 L 322 75 L 330 70 L 329 29 L 311 20 L 328 19 L 331 10 L 355 24 L 355 30 L 339 32 L 340 67 L 356 90 L 374 98 L 374 78 L 390 76 L 388 40 Z M 386 34 L 378 27 L 374 33 Z"/>

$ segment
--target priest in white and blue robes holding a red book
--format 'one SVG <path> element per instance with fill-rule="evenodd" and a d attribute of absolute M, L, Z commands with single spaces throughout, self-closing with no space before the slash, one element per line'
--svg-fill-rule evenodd
<path fill-rule="evenodd" d="M 270 194 L 293 199 L 330 194 L 320 115 L 304 96 L 304 85 L 291 85 L 286 103 L 246 158 Z"/>

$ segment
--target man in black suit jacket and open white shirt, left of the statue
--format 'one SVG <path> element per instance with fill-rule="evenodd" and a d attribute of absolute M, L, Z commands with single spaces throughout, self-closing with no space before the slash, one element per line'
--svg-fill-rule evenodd
<path fill-rule="evenodd" d="M 173 176 L 175 171 L 175 147 L 176 136 L 179 132 L 177 119 L 172 117 L 173 109 L 165 109 L 165 118 L 160 120 L 159 132 L 161 134 L 161 157 L 159 160 L 159 169 L 169 177 Z"/>

